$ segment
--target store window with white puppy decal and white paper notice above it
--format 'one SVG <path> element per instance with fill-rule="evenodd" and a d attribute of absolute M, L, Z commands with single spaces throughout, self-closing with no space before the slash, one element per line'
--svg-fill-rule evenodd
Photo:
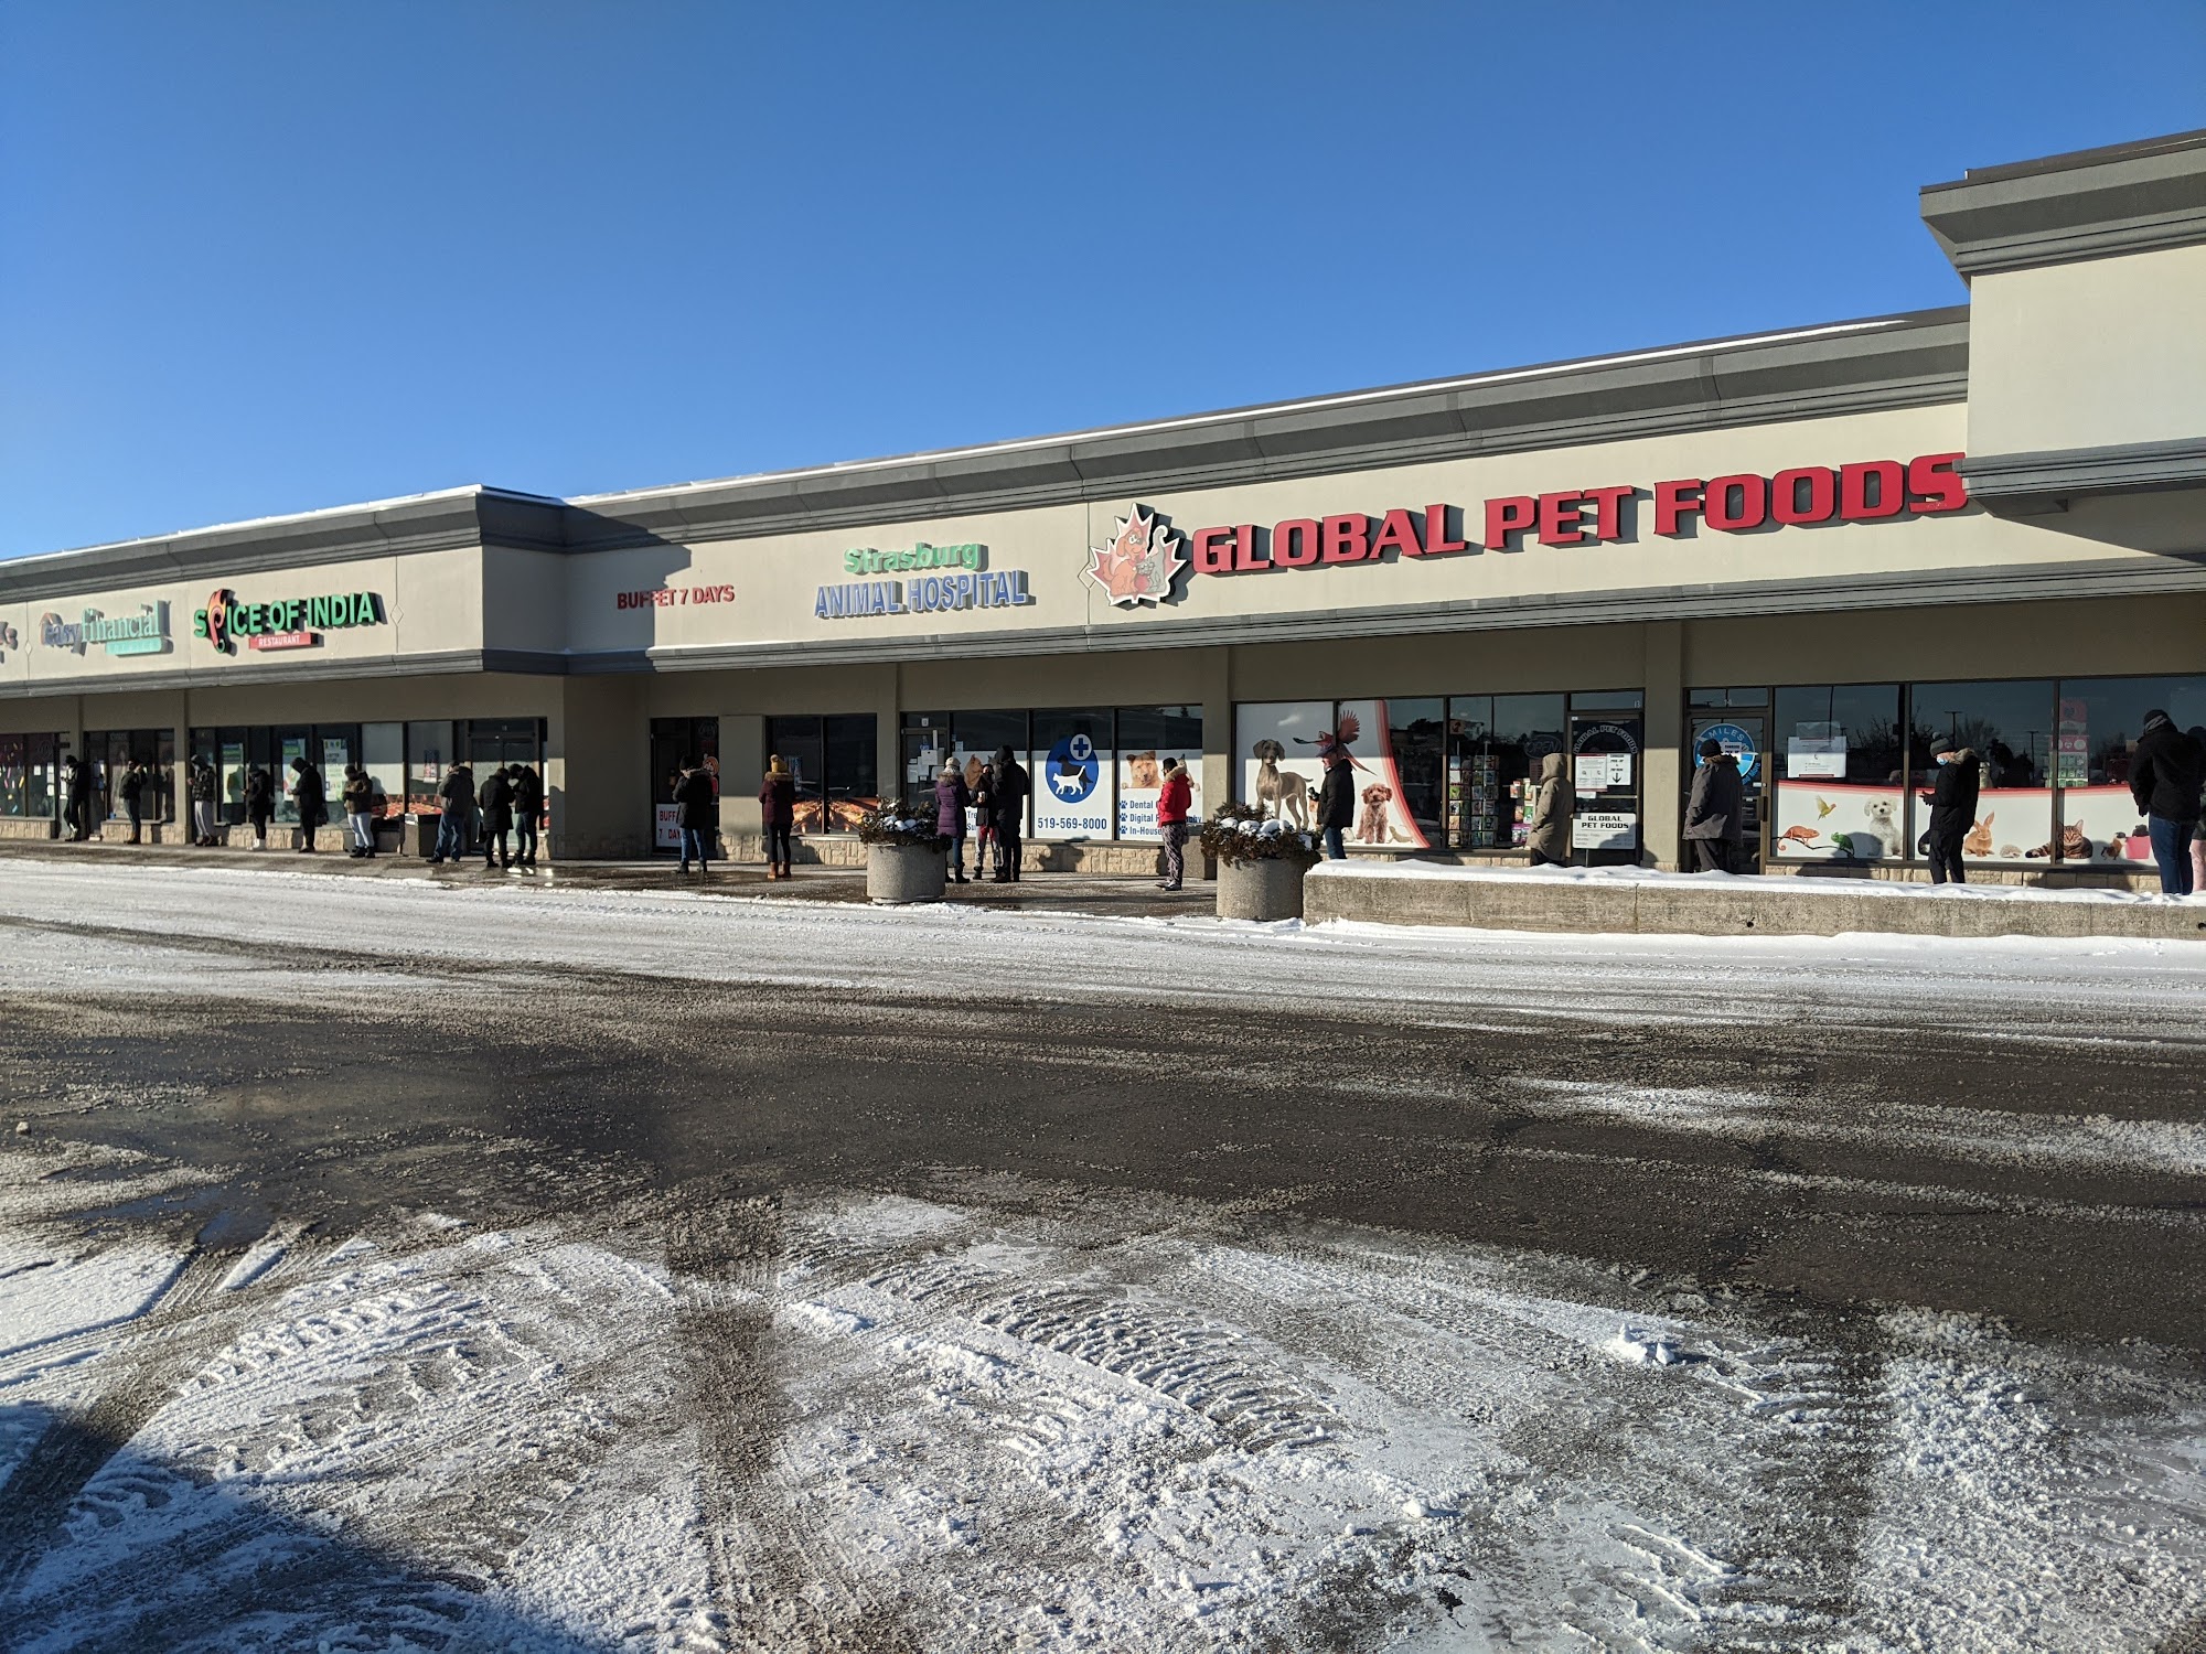
<path fill-rule="evenodd" d="M 1906 856 L 1908 790 L 1897 684 L 1776 690 L 1769 853 L 1780 862 Z"/>

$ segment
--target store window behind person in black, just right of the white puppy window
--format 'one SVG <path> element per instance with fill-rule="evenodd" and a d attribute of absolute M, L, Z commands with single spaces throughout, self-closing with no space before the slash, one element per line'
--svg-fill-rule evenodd
<path fill-rule="evenodd" d="M 1913 684 L 1908 688 L 1908 772 L 1913 845 L 1928 825 L 1919 794 L 1937 783 L 1937 754 L 1972 748 L 1983 765 L 1977 825 L 1961 840 L 1972 862 L 2018 862 L 2054 853 L 2054 686 Z M 1994 796 L 1999 794 L 1999 796 Z"/>

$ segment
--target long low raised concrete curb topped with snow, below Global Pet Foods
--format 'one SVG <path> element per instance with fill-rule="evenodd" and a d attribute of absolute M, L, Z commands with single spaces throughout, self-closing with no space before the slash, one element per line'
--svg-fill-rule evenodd
<path fill-rule="evenodd" d="M 1818 884 L 1723 873 L 1544 876 L 1324 864 L 1304 917 L 1628 935 L 2146 937 L 2206 942 L 2206 900 L 2012 887 Z"/>

